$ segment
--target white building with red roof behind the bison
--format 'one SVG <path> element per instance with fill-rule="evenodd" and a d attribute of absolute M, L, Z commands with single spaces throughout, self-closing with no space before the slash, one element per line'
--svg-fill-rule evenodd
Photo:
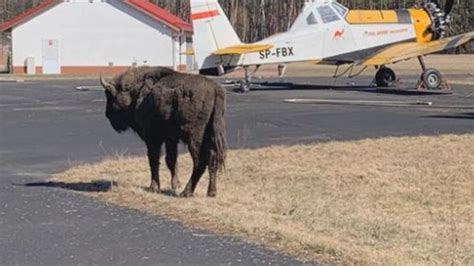
<path fill-rule="evenodd" d="M 131 66 L 192 68 L 192 26 L 148 0 L 45 0 L 0 25 L 13 73 L 117 73 Z"/>

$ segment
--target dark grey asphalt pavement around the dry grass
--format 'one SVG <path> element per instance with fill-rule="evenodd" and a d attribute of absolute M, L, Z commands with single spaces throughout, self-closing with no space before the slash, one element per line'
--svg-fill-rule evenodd
<path fill-rule="evenodd" d="M 452 95 L 380 93 L 352 81 L 275 79 L 248 94 L 228 86 L 231 148 L 474 132 L 474 86 Z M 314 85 L 319 84 L 319 85 Z M 186 228 L 84 197 L 28 186 L 74 165 L 144 155 L 104 116 L 97 81 L 0 83 L 1 265 L 300 264 L 230 236 Z M 430 101 L 433 106 L 288 104 L 285 99 Z"/>

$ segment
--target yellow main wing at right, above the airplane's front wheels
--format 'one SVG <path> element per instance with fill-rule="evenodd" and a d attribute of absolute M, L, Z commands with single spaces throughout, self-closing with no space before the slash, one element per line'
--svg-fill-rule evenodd
<path fill-rule="evenodd" d="M 432 41 L 429 43 L 409 42 L 395 44 L 383 49 L 360 64 L 366 66 L 380 66 L 396 63 L 398 61 L 407 60 L 413 57 L 455 48 L 473 39 L 474 31 L 450 38 Z"/>

